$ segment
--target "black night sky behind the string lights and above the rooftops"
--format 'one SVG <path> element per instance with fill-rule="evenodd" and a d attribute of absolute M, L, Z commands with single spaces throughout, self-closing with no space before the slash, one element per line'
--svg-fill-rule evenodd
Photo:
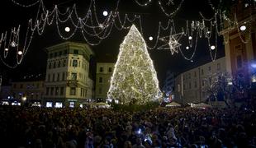
<path fill-rule="evenodd" d="M 20 1 L 13 0 L 17 2 L 36 2 L 33 1 Z M 139 2 L 147 2 L 147 0 L 138 0 Z M 45 2 L 45 7 L 47 9 L 52 9 L 55 4 L 59 6 L 60 9 L 65 9 L 66 7 L 72 7 L 73 3 L 76 3 L 78 8 L 78 15 L 83 15 L 87 12 L 89 0 L 53 0 L 50 2 Z M 129 16 L 138 14 L 142 17 L 142 28 L 143 35 L 146 43 L 151 47 L 154 44 L 154 41 L 149 41 L 149 36 L 153 36 L 154 39 L 157 35 L 159 21 L 162 21 L 164 25 L 168 21 L 168 17 L 164 15 L 161 11 L 158 1 L 153 0 L 153 2 L 147 7 L 140 7 L 135 3 L 135 0 L 121 0 L 118 11 L 121 14 L 128 14 Z M 166 1 L 162 1 L 168 2 Z M 173 0 L 174 3 L 178 3 L 179 1 Z M 17 25 L 21 25 L 21 30 L 26 30 L 27 21 L 30 18 L 36 17 L 36 11 L 38 5 L 34 7 L 20 7 L 17 6 L 11 0 L 2 0 L 0 5 L 0 15 L 1 15 L 1 26 L 0 32 L 10 31 L 12 27 L 17 27 Z M 26 3 L 24 3 L 26 4 Z M 215 3 L 213 3 L 215 4 Z M 103 19 L 102 11 L 107 10 L 110 12 L 116 7 L 116 0 L 96 0 L 96 7 L 99 19 Z M 175 9 L 171 7 L 169 9 L 172 12 Z M 213 12 L 211 11 L 211 7 L 208 4 L 207 0 L 184 0 L 184 3 L 177 13 L 176 16 L 173 17 L 175 21 L 175 25 L 177 26 L 177 30 L 180 30 L 181 27 L 186 26 L 186 20 L 188 21 L 201 21 L 201 16 L 199 12 L 202 12 L 205 16 L 211 17 Z M 139 28 L 140 25 L 138 22 L 135 22 L 135 25 Z M 140 29 L 139 29 L 140 30 Z M 119 46 L 128 33 L 128 30 L 116 30 L 113 27 L 111 35 L 102 41 L 101 44 L 97 46 L 91 46 L 92 50 L 96 53 L 95 60 L 96 61 L 104 61 L 111 59 L 113 62 L 116 62 L 117 54 L 119 52 Z M 168 35 L 168 34 L 167 34 Z M 24 35 L 21 35 L 21 38 Z M 86 43 L 80 33 L 77 33 L 71 41 L 77 41 L 80 43 Z M 45 32 L 43 35 L 34 35 L 34 38 L 31 43 L 31 47 L 26 54 L 23 62 L 17 68 L 12 69 L 4 66 L 2 62 L 0 63 L 0 74 L 4 75 L 4 77 L 15 79 L 15 77 L 19 77 L 21 75 L 33 74 L 33 73 L 44 73 L 45 65 L 46 65 L 46 53 L 45 48 L 54 44 L 59 44 L 64 42 L 64 39 L 61 39 L 57 33 L 56 25 L 46 26 Z M 180 53 L 176 53 L 174 55 L 171 54 L 169 50 L 159 50 L 159 49 L 151 49 L 149 50 L 150 57 L 154 61 L 154 67 L 158 73 L 160 86 L 163 86 L 164 77 L 167 70 L 171 70 L 172 72 L 183 72 L 189 67 L 196 67 L 200 65 L 202 62 L 211 61 L 210 54 L 207 49 L 206 39 L 199 39 L 197 44 L 197 53 L 195 58 L 193 58 L 193 62 L 185 60 Z M 221 37 L 218 43 L 218 57 L 224 56 L 224 46 L 222 45 Z M 3 49 L 0 50 L 0 55 L 2 56 Z M 11 55 L 9 57 L 8 63 L 12 62 Z"/>

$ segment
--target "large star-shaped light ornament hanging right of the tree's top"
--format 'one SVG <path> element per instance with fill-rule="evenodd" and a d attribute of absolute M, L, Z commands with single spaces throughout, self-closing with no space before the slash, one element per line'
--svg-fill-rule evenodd
<path fill-rule="evenodd" d="M 170 49 L 172 55 L 174 53 L 178 53 L 178 48 L 180 48 L 180 46 L 182 45 L 182 44 L 178 43 L 178 41 L 179 41 L 179 39 L 181 39 L 183 37 L 183 34 L 184 33 L 181 32 L 181 33 L 178 33 L 175 35 L 169 35 L 169 36 L 160 38 L 160 40 L 164 41 L 167 44 L 160 46 L 158 49 Z"/>

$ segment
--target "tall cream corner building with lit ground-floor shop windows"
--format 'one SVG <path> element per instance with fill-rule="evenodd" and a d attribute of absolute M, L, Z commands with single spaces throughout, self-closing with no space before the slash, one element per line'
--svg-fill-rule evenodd
<path fill-rule="evenodd" d="M 46 50 L 44 105 L 73 108 L 92 99 L 93 81 L 88 73 L 94 53 L 88 44 L 64 42 Z"/>

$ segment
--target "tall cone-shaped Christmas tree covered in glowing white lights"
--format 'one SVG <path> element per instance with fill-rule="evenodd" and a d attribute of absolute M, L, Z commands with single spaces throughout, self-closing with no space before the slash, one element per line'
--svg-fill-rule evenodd
<path fill-rule="evenodd" d="M 153 62 L 135 25 L 120 46 L 107 95 L 121 104 L 146 104 L 161 98 Z"/>

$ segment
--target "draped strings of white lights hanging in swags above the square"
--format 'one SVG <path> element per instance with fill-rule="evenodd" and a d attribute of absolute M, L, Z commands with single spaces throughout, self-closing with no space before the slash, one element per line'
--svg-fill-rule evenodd
<path fill-rule="evenodd" d="M 179 11 L 180 7 L 182 7 L 184 0 L 181 1 L 174 1 L 174 0 L 155 0 L 158 4 L 160 9 L 164 12 L 165 16 L 167 17 L 173 17 L 175 14 Z M 252 12 L 253 9 L 255 9 L 255 3 L 250 5 L 249 7 L 249 19 L 246 19 L 244 21 L 239 22 L 236 18 L 236 15 L 234 16 L 234 19 L 231 19 L 228 16 L 225 16 L 225 12 L 220 11 L 220 4 L 221 0 L 219 2 L 218 7 L 214 7 L 214 5 L 211 3 L 211 0 L 207 0 L 208 4 L 211 6 L 211 10 L 214 12 L 214 15 L 211 18 L 206 18 L 201 12 L 200 15 L 202 17 L 202 21 L 192 21 L 191 23 L 187 22 L 187 26 L 184 28 L 184 35 L 187 37 L 188 44 L 185 44 L 184 47 L 182 45 L 178 45 L 178 48 L 174 48 L 175 50 L 171 50 L 171 53 L 181 53 L 184 59 L 186 60 L 192 60 L 194 57 L 196 51 L 197 51 L 197 39 L 205 37 L 208 42 L 208 49 L 209 53 L 211 55 L 211 60 L 214 61 L 216 59 L 216 53 L 217 53 L 217 38 L 220 35 L 225 35 L 224 41 L 225 44 L 228 44 L 229 42 L 229 32 L 233 30 L 237 30 L 239 33 L 239 38 L 242 40 L 244 44 L 247 44 L 250 38 L 251 38 L 251 31 L 252 31 L 252 25 L 254 25 L 255 16 L 253 16 Z M 90 0 L 90 4 L 88 6 L 88 10 L 83 17 L 78 16 L 78 11 L 76 8 L 76 5 L 74 4 L 73 7 L 68 7 L 65 12 L 59 11 L 59 8 L 57 5 L 52 10 L 48 10 L 45 7 L 45 4 L 43 0 L 33 0 L 30 4 L 22 4 L 18 2 L 17 0 L 12 0 L 15 4 L 17 4 L 20 7 L 33 7 L 36 5 L 38 6 L 38 10 L 36 13 L 35 19 L 30 19 L 28 21 L 26 35 L 20 35 L 19 29 L 12 29 L 10 32 L 6 31 L 2 33 L 1 39 L 0 39 L 0 51 L 2 55 L 0 55 L 0 60 L 3 62 L 4 65 L 7 67 L 15 68 L 18 64 L 22 62 L 22 59 L 26 56 L 27 50 L 30 48 L 31 40 L 33 39 L 33 35 L 36 32 L 38 35 L 43 35 L 45 31 L 45 27 L 47 25 L 53 25 L 55 24 L 56 30 L 58 31 L 59 37 L 61 39 L 70 39 L 73 37 L 73 35 L 80 32 L 82 34 L 83 39 L 86 41 L 89 45 L 98 45 L 102 43 L 103 39 L 107 39 L 109 35 L 111 35 L 111 30 L 113 27 L 115 27 L 117 30 L 128 30 L 130 29 L 130 24 L 133 24 L 134 22 L 138 22 L 138 26 L 140 26 L 140 34 L 143 36 L 143 21 L 142 16 L 140 15 L 131 15 L 131 14 L 120 14 L 118 12 L 118 6 L 120 0 L 116 2 L 116 7 L 113 9 L 113 11 L 109 12 L 107 16 L 103 18 L 102 21 L 98 18 L 99 15 L 97 15 L 97 7 L 96 7 L 96 0 Z M 140 5 L 141 7 L 146 7 L 149 4 L 153 3 L 153 0 L 135 0 L 135 2 Z M 145 2 L 145 3 L 143 3 Z M 179 2 L 179 3 L 178 3 Z M 169 12 L 168 9 L 172 8 L 173 11 Z M 228 26 L 227 29 L 223 28 L 224 21 L 227 22 Z M 63 30 L 62 26 L 67 25 L 71 22 L 70 31 L 69 34 Z M 173 23 L 173 26 L 171 25 L 171 22 Z M 207 24 L 208 23 L 208 24 Z M 168 19 L 168 24 L 166 26 L 163 25 L 164 23 L 162 21 L 159 21 L 158 26 L 158 32 L 156 35 L 152 35 L 154 37 L 154 43 L 153 46 L 147 46 L 147 49 L 161 49 L 163 47 L 159 46 L 159 41 L 163 41 L 161 33 L 166 33 L 168 30 L 173 29 L 175 30 L 174 21 L 171 19 Z M 239 30 L 239 27 L 241 25 L 246 24 L 246 27 L 248 29 L 241 31 Z M 218 29 L 218 26 L 220 26 L 220 30 L 225 30 L 225 33 L 220 33 L 220 30 Z M 244 39 L 244 35 L 247 35 L 249 39 Z M 176 33 L 173 32 L 173 35 Z M 204 35 L 204 36 L 203 36 Z M 23 43 L 19 43 L 19 36 L 21 36 Z M 172 42 L 172 38 L 169 38 L 171 35 L 168 36 L 164 40 L 165 45 L 169 47 L 176 47 L 175 44 Z M 192 39 L 188 39 L 189 36 L 192 36 Z M 174 36 L 173 36 L 174 37 Z M 162 40 L 161 40 L 162 39 Z M 215 40 L 215 50 L 211 50 L 211 45 L 214 43 L 211 43 L 212 40 Z M 175 43 L 175 37 L 174 37 L 174 43 Z M 152 41 L 151 41 L 152 42 Z M 171 43 L 171 44 L 168 44 Z M 188 49 L 186 47 L 189 47 Z M 16 49 L 17 52 L 12 53 L 18 53 L 18 51 L 21 51 L 21 55 L 16 55 L 17 57 L 17 63 L 16 64 L 10 64 L 7 63 L 6 58 L 9 58 L 10 51 L 12 49 Z M 178 49 L 178 50 L 177 50 Z M 187 52 L 183 53 L 183 50 L 185 51 L 192 51 L 192 53 L 188 53 L 189 56 L 187 56 Z M 172 53 L 173 54 L 173 53 Z M 12 58 L 14 59 L 14 58 Z"/>

